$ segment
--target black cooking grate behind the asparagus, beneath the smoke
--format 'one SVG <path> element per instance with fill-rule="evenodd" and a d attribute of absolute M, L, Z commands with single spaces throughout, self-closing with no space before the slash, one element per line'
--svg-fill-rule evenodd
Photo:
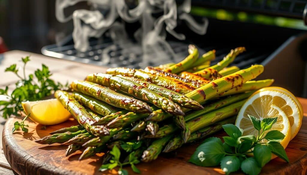
<path fill-rule="evenodd" d="M 104 42 L 99 42 L 98 40 L 91 41 L 90 47 L 87 52 L 78 52 L 74 49 L 72 42 L 70 44 L 63 45 L 61 47 L 54 45 L 45 46 L 42 48 L 42 53 L 44 55 L 53 56 L 62 59 L 68 59 L 73 61 L 78 61 L 82 63 L 95 64 L 107 67 L 130 67 L 130 68 L 144 68 L 146 66 L 158 66 L 160 64 L 165 64 L 169 62 L 179 62 L 184 59 L 188 53 L 188 44 L 184 42 L 169 41 L 169 44 L 173 51 L 175 52 L 175 57 L 169 56 L 171 54 L 166 54 L 164 58 L 151 59 L 148 63 L 143 63 L 143 55 L 139 49 L 134 49 L 131 45 L 124 45 L 126 52 L 117 44 L 113 44 L 110 40 L 104 40 Z M 210 43 L 210 42 L 208 42 Z M 211 43 L 212 44 L 212 43 Z M 212 64 L 216 64 L 221 61 L 229 51 L 235 47 L 240 47 L 241 45 L 230 44 L 229 46 L 224 44 L 195 44 L 200 50 L 200 55 L 204 54 L 206 51 L 212 49 L 216 50 L 216 59 L 212 61 Z M 251 64 L 260 64 L 264 59 L 267 58 L 276 48 L 258 48 L 255 46 L 247 46 L 247 52 L 240 54 L 231 66 L 238 66 L 240 68 L 246 68 Z M 259 51 L 261 50 L 261 51 Z M 106 59 L 107 58 L 107 59 Z"/>

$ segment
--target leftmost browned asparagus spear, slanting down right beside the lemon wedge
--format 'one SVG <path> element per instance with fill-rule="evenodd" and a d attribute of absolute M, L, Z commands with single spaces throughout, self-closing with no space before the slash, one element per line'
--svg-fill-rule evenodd
<path fill-rule="evenodd" d="M 87 113 L 85 108 L 67 92 L 57 90 L 54 93 L 54 96 L 88 132 L 97 136 L 104 136 L 109 134 L 108 128 L 102 125 L 91 126 L 95 120 L 91 117 L 90 114 Z"/>

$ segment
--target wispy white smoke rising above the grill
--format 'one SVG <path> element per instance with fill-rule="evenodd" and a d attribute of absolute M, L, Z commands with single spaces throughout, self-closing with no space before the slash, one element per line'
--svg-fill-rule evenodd
<path fill-rule="evenodd" d="M 125 0 L 87 0 L 92 10 L 75 10 L 68 17 L 64 15 L 65 8 L 81 1 L 84 0 L 56 0 L 57 20 L 60 22 L 73 20 L 72 35 L 76 50 L 87 51 L 90 37 L 100 38 L 104 33 L 109 32 L 113 42 L 122 48 L 122 55 L 130 54 L 131 57 L 131 53 L 143 54 L 144 65 L 152 58 L 155 62 L 163 62 L 162 59 L 168 58 L 169 55 L 175 56 L 165 37 L 168 32 L 178 40 L 185 40 L 184 34 L 174 30 L 177 27 L 177 21 L 185 21 L 192 31 L 200 35 L 204 35 L 208 27 L 206 18 L 202 24 L 199 24 L 188 14 L 191 10 L 191 0 L 185 0 L 178 9 L 175 0 L 139 0 L 138 5 L 133 9 L 128 7 Z M 153 17 L 157 13 L 163 13 L 163 15 Z M 116 21 L 119 17 L 127 23 L 136 21 L 141 23 L 141 28 L 134 33 L 138 44 L 130 41 L 124 22 Z M 102 61 L 107 63 L 110 59 L 107 53 L 114 49 L 115 45 L 104 49 Z"/>

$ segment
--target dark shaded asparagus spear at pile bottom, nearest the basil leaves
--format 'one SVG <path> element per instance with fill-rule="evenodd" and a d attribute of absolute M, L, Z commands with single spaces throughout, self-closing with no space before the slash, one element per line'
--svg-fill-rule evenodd
<path fill-rule="evenodd" d="M 194 141 L 203 139 L 207 137 L 208 135 L 211 135 L 213 133 L 216 133 L 217 131 L 220 131 L 222 129 L 222 125 L 224 124 L 232 124 L 235 123 L 236 116 L 229 117 L 225 120 L 222 120 L 220 122 L 217 122 L 215 124 L 206 126 L 196 132 L 193 132 L 191 134 L 191 137 L 187 140 L 187 143 L 192 143 Z M 176 150 L 177 148 L 181 147 L 184 144 L 184 141 L 181 137 L 181 135 L 175 136 L 173 139 L 169 141 L 169 143 L 165 146 L 163 152 L 168 153 L 173 150 Z"/>

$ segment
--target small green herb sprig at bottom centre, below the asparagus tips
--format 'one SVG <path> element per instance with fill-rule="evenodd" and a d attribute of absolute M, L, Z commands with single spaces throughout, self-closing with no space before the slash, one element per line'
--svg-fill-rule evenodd
<path fill-rule="evenodd" d="M 110 154 L 112 155 L 112 158 L 110 160 L 110 163 L 103 164 L 101 165 L 99 171 L 106 171 L 108 169 L 113 169 L 117 166 L 119 166 L 118 174 L 119 175 L 128 175 L 128 171 L 125 169 L 122 169 L 124 165 L 129 165 L 131 166 L 131 169 L 135 173 L 141 173 L 141 171 L 135 166 L 135 164 L 138 164 L 140 161 L 138 158 L 135 156 L 135 152 L 131 152 L 129 154 L 129 161 L 125 163 L 121 163 L 119 158 L 120 158 L 120 150 L 117 146 L 113 146 L 112 150 L 110 151 Z"/>

